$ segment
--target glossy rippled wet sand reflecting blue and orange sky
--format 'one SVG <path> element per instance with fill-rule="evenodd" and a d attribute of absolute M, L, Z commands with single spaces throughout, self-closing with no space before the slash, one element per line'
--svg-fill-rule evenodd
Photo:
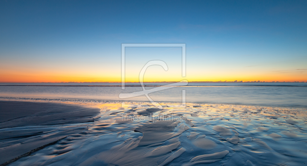
<path fill-rule="evenodd" d="M 24 135 L 29 137 L 22 139 L 36 138 L 33 130 L 45 132 L 45 138 L 63 138 L 9 165 L 307 163 L 305 108 L 217 104 L 187 104 L 183 108 L 176 103 L 161 103 L 163 110 L 158 110 L 140 102 L 126 102 L 124 108 L 115 101 L 74 102 L 101 112 L 94 122 L 44 126 L 14 123 L 17 127 L 2 128 L 0 133 L 27 131 Z M 53 130 L 62 133 L 47 133 Z M 13 138 L 2 139 L 1 146 L 9 139 Z"/>

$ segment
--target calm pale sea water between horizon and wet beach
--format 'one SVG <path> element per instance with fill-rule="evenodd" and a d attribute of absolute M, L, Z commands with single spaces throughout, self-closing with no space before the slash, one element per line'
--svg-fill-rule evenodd
<path fill-rule="evenodd" d="M 120 83 L 19 85 L 120 85 Z M 145 85 L 166 85 L 166 83 L 146 83 Z M 153 92 L 149 96 L 157 102 L 181 102 L 182 90 L 185 90 L 187 103 L 307 107 L 307 83 L 189 83 L 188 85 L 190 86 Z M 152 88 L 155 87 L 146 87 L 146 89 Z M 142 91 L 142 87 L 127 86 L 122 90 L 119 86 L 0 86 L 0 97 L 148 102 L 145 95 L 119 98 L 120 93 L 136 91 Z"/>

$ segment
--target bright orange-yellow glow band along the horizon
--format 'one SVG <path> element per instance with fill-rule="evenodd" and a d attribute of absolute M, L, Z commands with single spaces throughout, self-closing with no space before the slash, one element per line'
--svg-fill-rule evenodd
<path fill-rule="evenodd" d="M 279 81 L 279 82 L 307 82 L 307 77 L 302 77 L 298 74 L 233 74 L 233 75 L 214 75 L 208 74 L 206 76 L 191 75 L 187 77 L 169 77 L 166 74 L 159 77 L 150 77 L 149 74 L 145 74 L 144 82 L 163 82 L 163 81 Z M 126 74 L 126 82 L 139 82 L 138 77 L 132 77 Z M 101 76 L 95 74 L 80 74 L 77 73 L 0 73 L 0 83 L 31 83 L 31 82 L 121 82 L 120 73 L 105 74 Z"/>

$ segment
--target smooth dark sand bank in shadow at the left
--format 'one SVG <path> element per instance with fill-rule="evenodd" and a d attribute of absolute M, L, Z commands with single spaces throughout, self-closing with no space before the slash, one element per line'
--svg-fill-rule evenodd
<path fill-rule="evenodd" d="M 10 163 L 71 134 L 86 131 L 88 125 L 80 123 L 93 122 L 99 113 L 98 108 L 76 105 L 0 101 L 0 163 Z M 49 128 L 50 125 L 54 127 Z"/>

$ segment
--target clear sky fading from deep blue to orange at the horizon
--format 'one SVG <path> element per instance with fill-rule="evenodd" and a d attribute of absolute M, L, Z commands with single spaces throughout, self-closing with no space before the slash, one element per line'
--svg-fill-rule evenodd
<path fill-rule="evenodd" d="M 0 0 L 0 82 L 307 81 L 307 1 Z"/>

